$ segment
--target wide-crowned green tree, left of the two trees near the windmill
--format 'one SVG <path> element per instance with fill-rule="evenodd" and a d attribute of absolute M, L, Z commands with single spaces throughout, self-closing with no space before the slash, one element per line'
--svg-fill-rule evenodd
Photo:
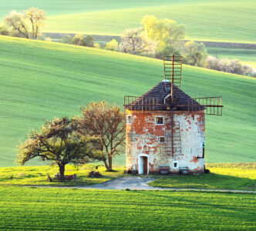
<path fill-rule="evenodd" d="M 81 135 L 76 125 L 76 119 L 67 117 L 46 122 L 39 132 L 30 132 L 28 139 L 18 147 L 17 161 L 23 165 L 29 159 L 39 157 L 42 161 L 57 164 L 63 182 L 66 164 L 103 159 L 103 153 L 96 149 L 96 138 Z"/>

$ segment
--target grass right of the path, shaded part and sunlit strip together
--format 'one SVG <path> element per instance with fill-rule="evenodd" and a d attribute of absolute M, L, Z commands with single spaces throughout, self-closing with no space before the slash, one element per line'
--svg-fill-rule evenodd
<path fill-rule="evenodd" d="M 207 164 L 209 174 L 199 175 L 156 175 L 150 182 L 154 187 L 181 189 L 240 189 L 256 191 L 256 163 Z"/>

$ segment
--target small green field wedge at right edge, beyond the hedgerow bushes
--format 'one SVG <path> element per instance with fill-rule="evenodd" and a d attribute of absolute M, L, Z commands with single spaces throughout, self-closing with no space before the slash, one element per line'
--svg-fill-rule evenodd
<path fill-rule="evenodd" d="M 256 50 L 254 49 L 207 48 L 207 52 L 219 59 L 239 59 L 256 69 Z"/>

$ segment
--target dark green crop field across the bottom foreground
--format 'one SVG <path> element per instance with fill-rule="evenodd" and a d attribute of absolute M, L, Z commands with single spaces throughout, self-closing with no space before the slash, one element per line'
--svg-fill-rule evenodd
<path fill-rule="evenodd" d="M 0 187 L 0 229 L 253 230 L 255 196 Z"/>

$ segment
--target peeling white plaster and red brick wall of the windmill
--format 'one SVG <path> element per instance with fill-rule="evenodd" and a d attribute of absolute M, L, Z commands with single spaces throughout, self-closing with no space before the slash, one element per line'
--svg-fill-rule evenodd
<path fill-rule="evenodd" d="M 174 156 L 170 152 L 170 113 L 127 112 L 127 115 L 131 115 L 131 124 L 126 125 L 126 169 L 137 170 L 138 157 L 147 156 L 149 172 L 158 172 L 159 166 L 170 166 L 171 172 L 178 172 L 183 167 L 188 167 L 192 172 L 204 170 L 204 159 L 198 159 L 203 156 L 204 111 L 173 112 L 173 121 L 180 125 L 175 126 L 174 130 L 180 132 L 181 145 L 181 152 L 174 153 Z M 163 116 L 163 125 L 155 124 L 157 116 Z M 167 137 L 165 143 L 159 142 L 160 136 Z M 173 168 L 173 162 L 178 162 L 177 168 Z"/>

